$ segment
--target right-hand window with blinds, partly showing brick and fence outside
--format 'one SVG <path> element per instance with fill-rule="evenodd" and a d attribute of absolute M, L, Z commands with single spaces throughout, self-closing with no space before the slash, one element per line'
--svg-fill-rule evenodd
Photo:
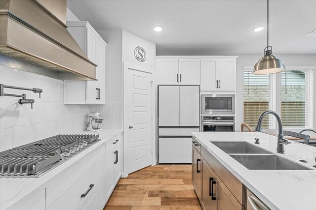
<path fill-rule="evenodd" d="M 313 127 L 313 70 L 287 69 L 281 73 L 283 127 Z"/>

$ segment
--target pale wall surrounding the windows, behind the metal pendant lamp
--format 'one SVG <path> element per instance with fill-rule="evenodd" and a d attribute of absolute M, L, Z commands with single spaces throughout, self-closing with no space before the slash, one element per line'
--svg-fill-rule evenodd
<path fill-rule="evenodd" d="M 276 55 L 285 66 L 316 65 L 316 55 Z M 236 131 L 240 131 L 240 124 L 243 121 L 243 68 L 253 66 L 262 55 L 239 55 L 237 58 L 236 73 Z M 280 74 L 280 73 L 278 73 Z M 316 72 L 314 73 L 316 81 Z M 314 128 L 316 128 L 316 84 L 314 85 Z"/>

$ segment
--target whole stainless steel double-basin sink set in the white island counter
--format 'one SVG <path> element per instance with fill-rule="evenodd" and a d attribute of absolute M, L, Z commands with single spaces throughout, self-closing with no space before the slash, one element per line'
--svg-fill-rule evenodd
<path fill-rule="evenodd" d="M 249 170 L 312 170 L 248 142 L 210 142 Z"/>

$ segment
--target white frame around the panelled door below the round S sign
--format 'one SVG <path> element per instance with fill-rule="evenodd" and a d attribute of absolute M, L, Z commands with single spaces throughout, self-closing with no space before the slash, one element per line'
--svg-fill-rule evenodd
<path fill-rule="evenodd" d="M 125 72 L 128 71 L 128 69 L 133 69 L 133 70 L 136 70 L 136 71 L 142 71 L 142 72 L 146 72 L 146 73 L 150 73 L 152 74 L 152 81 L 153 81 L 153 84 L 152 84 L 152 166 L 153 165 L 156 165 L 157 164 L 157 157 L 156 157 L 156 107 L 155 107 L 155 98 L 156 98 L 156 91 L 155 91 L 155 84 L 156 84 L 156 75 L 155 75 L 155 69 L 150 69 L 150 68 L 146 68 L 146 67 L 143 67 L 143 66 L 140 66 L 140 65 L 135 65 L 135 64 L 131 64 L 131 63 L 127 63 L 127 62 L 123 62 L 123 98 L 122 98 L 122 101 L 123 101 L 123 129 L 124 130 L 127 130 L 128 129 L 128 125 L 126 124 L 125 125 L 125 122 L 128 120 L 127 119 L 127 115 L 125 115 L 124 113 L 126 113 L 126 109 L 127 109 L 127 106 L 126 104 L 124 103 L 124 98 L 126 98 L 126 95 L 127 95 L 127 92 L 125 90 L 124 87 L 126 87 L 126 83 L 127 83 L 127 77 L 126 77 L 126 74 Z M 123 151 L 125 151 L 126 149 L 128 148 L 125 148 L 125 144 L 124 144 L 124 141 L 123 141 L 123 146 L 122 146 L 122 149 Z M 124 155 L 125 152 L 122 152 L 123 154 L 123 159 L 124 159 L 124 162 L 123 162 L 123 172 L 122 172 L 122 177 L 127 177 L 128 174 L 125 173 L 125 163 L 127 162 L 125 160 L 125 155 Z"/>

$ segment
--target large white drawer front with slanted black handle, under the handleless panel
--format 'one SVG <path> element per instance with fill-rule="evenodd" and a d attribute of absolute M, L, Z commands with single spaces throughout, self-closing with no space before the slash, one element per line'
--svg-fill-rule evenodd
<path fill-rule="evenodd" d="M 49 210 L 82 210 L 105 182 L 105 157 L 72 186 Z M 93 187 L 91 184 L 94 184 Z M 88 192 L 88 190 L 90 190 Z M 101 192 L 101 191 L 100 191 Z M 85 197 L 81 197 L 85 194 Z M 104 197 L 105 201 L 105 197 Z M 104 203 L 105 205 L 105 203 Z"/>

